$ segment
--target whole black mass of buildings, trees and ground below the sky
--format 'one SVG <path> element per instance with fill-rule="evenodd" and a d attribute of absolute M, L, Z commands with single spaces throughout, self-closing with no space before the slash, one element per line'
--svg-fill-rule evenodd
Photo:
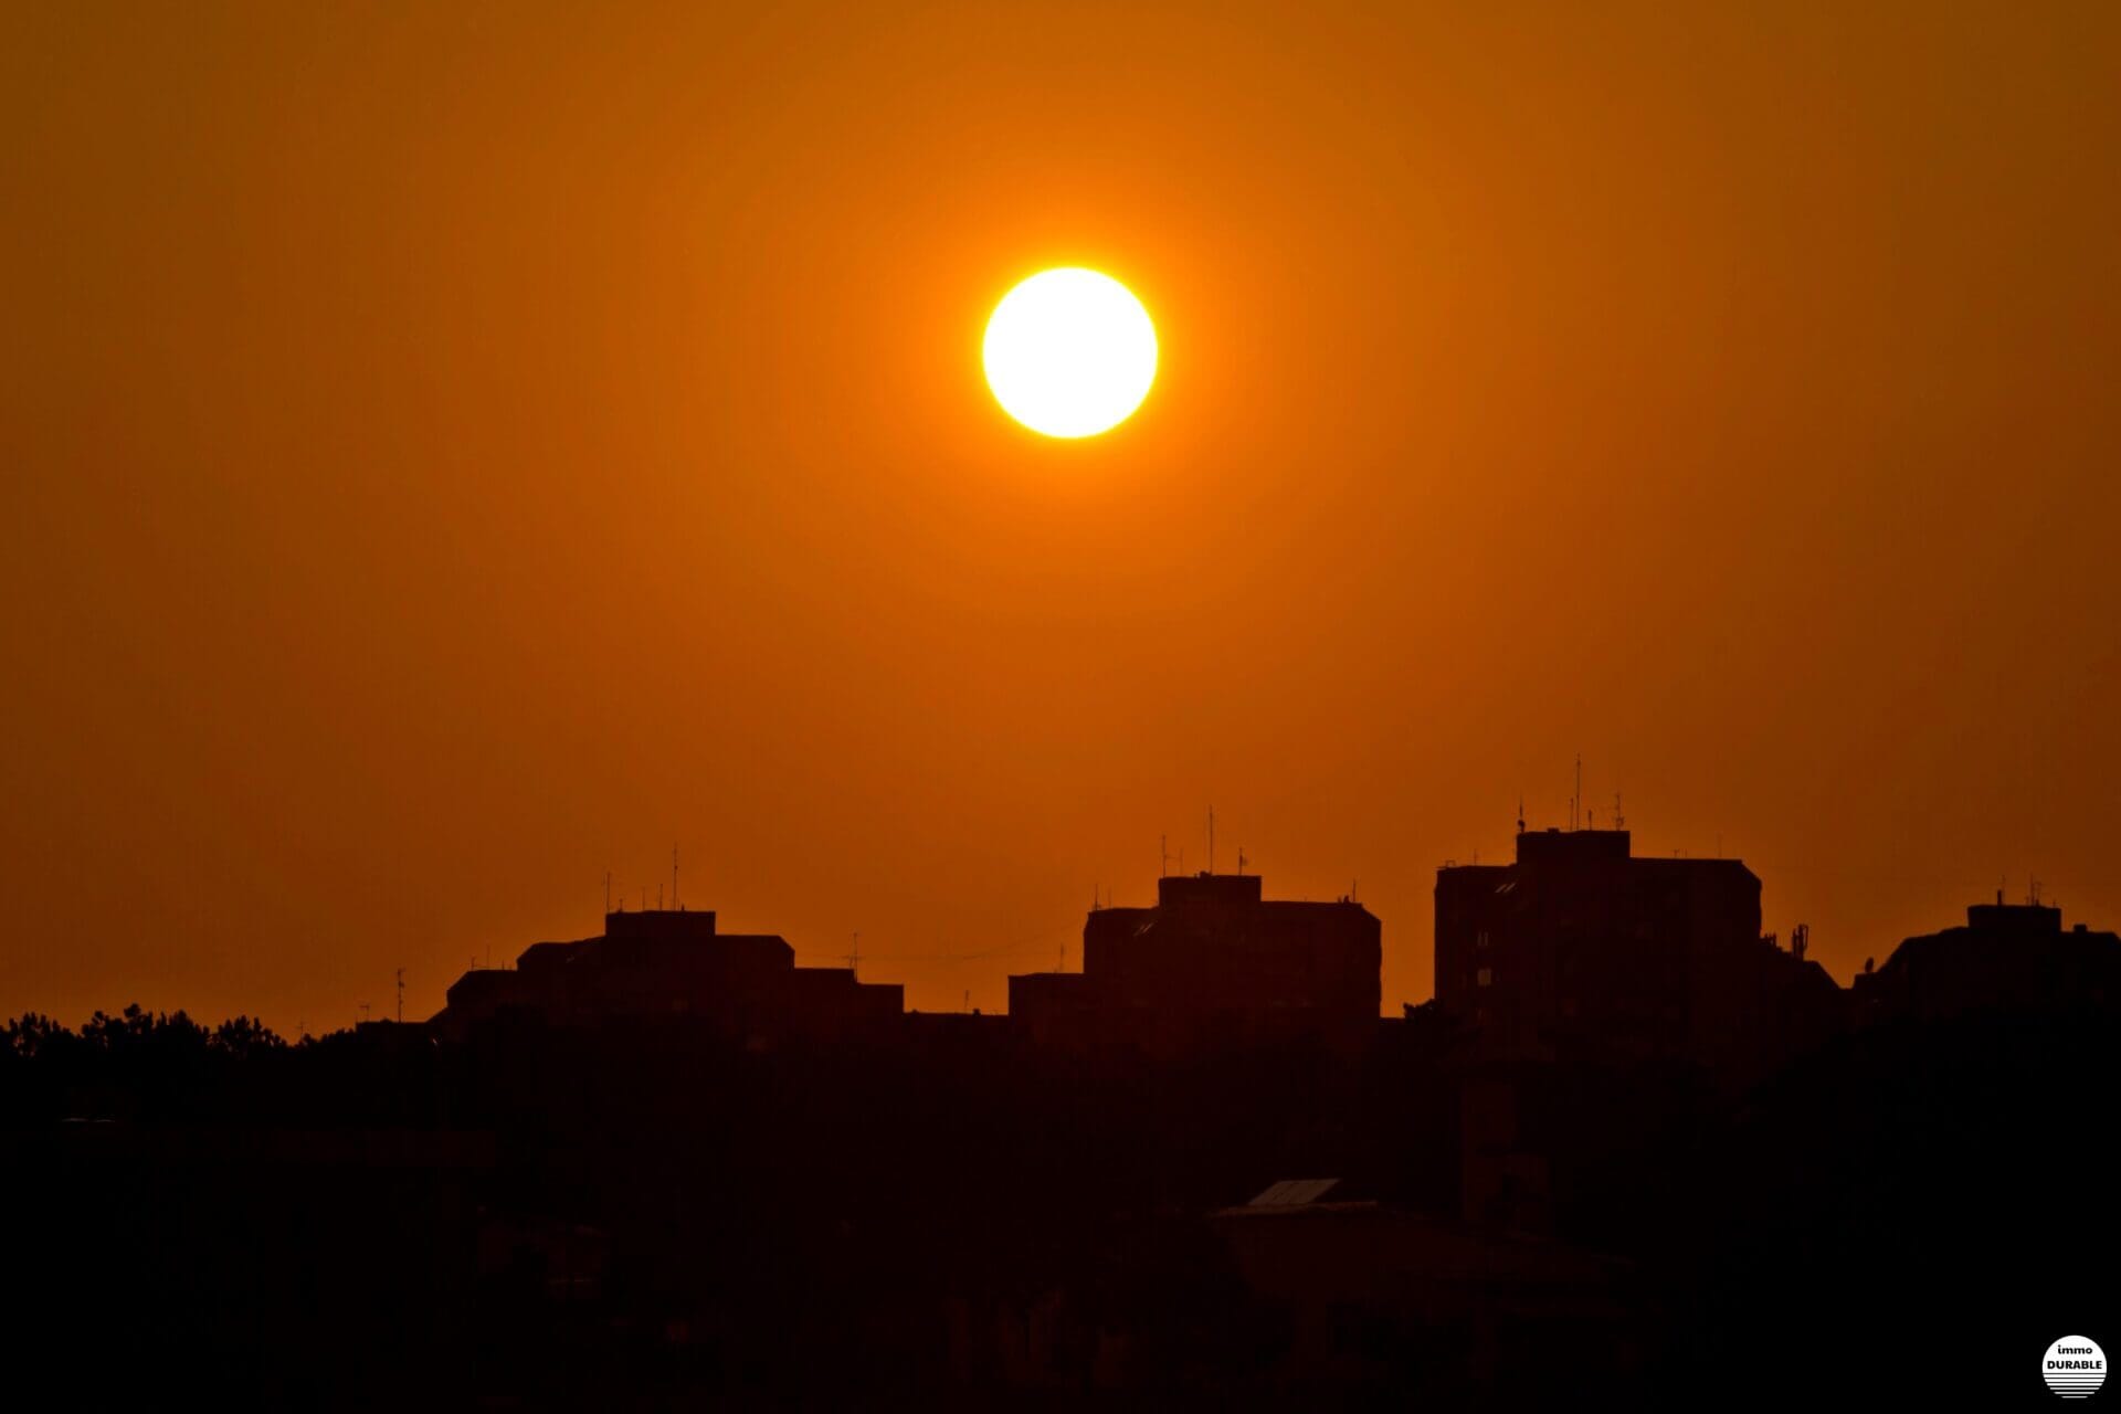
<path fill-rule="evenodd" d="M 1743 863 L 1538 831 L 1438 871 L 1432 1003 L 1379 958 L 1188 876 L 999 1018 L 674 909 L 301 1045 L 23 1018 L 15 1336 L 274 1408 L 2017 1408 L 2121 1342 L 2113 933 L 1841 988 Z"/>

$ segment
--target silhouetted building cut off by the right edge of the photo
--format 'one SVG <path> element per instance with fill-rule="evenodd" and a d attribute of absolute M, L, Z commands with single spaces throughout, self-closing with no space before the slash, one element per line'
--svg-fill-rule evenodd
<path fill-rule="evenodd" d="M 1975 903 L 1964 929 L 1911 937 L 1875 973 L 1858 973 L 1864 1020 L 1941 1020 L 1970 1011 L 2121 1007 L 2121 937 L 2062 929 L 2047 903 Z"/>

